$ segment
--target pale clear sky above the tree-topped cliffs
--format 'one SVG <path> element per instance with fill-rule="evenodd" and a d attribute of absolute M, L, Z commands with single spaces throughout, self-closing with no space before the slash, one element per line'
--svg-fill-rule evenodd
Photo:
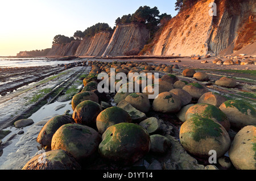
<path fill-rule="evenodd" d="M 140 6 L 158 7 L 173 17 L 176 0 L 0 0 L 0 56 L 51 48 L 55 35 L 73 36 L 96 23 L 115 19 Z"/>

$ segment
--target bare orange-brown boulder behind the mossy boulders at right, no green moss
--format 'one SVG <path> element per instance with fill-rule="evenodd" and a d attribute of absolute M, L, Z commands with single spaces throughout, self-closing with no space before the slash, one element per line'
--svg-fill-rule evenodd
<path fill-rule="evenodd" d="M 213 106 L 219 107 L 222 103 L 224 103 L 227 100 L 228 99 L 226 99 L 224 96 L 217 94 L 215 92 L 206 92 L 199 98 L 197 103 L 212 104 Z"/>

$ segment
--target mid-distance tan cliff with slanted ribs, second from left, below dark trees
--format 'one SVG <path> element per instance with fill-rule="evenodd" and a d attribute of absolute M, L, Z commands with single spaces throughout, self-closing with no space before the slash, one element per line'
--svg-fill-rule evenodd
<path fill-rule="evenodd" d="M 85 37 L 76 50 L 75 56 L 101 56 L 109 44 L 112 33 L 102 31 L 94 37 Z"/>

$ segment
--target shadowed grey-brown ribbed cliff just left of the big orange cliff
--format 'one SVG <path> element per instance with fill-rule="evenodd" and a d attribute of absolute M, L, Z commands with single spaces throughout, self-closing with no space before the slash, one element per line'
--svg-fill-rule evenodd
<path fill-rule="evenodd" d="M 118 24 L 102 57 L 125 56 L 133 49 L 141 50 L 150 32 L 141 23 Z"/>

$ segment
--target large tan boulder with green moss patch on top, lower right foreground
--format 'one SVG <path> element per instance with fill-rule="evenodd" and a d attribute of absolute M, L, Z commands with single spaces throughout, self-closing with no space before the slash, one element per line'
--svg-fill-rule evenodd
<path fill-rule="evenodd" d="M 209 151 L 215 150 L 217 158 L 228 151 L 230 138 L 222 125 L 206 117 L 193 117 L 180 127 L 180 142 L 189 153 L 209 158 Z"/>

